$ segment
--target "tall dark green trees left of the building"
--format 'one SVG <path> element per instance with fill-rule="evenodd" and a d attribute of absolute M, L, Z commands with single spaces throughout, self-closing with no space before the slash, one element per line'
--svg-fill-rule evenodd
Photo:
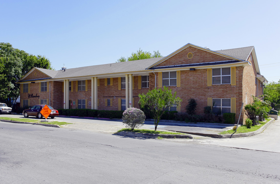
<path fill-rule="evenodd" d="M 45 56 L 33 56 L 15 49 L 10 43 L 0 43 L 0 101 L 11 105 L 19 94 L 16 82 L 33 67 L 52 69 Z"/>

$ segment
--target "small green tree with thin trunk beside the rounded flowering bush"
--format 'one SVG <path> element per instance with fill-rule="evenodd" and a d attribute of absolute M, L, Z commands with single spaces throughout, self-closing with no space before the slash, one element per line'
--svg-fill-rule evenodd
<path fill-rule="evenodd" d="M 149 90 L 146 95 L 144 95 L 144 93 L 142 95 L 139 94 L 139 98 L 140 107 L 147 107 L 153 119 L 155 119 L 155 131 L 157 131 L 159 120 L 164 111 L 174 104 L 178 106 L 179 102 L 182 101 L 179 97 L 176 98 L 176 92 L 172 94 L 171 89 L 168 90 L 166 86 L 164 86 L 163 90 L 159 88 L 151 91 Z"/>

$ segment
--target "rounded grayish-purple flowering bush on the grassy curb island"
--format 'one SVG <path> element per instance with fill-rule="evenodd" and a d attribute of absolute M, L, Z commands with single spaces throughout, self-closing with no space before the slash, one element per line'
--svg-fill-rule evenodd
<path fill-rule="evenodd" d="M 126 128 L 133 130 L 134 128 L 141 127 L 144 124 L 145 118 L 146 116 L 142 110 L 130 107 L 123 112 L 122 120 Z"/>

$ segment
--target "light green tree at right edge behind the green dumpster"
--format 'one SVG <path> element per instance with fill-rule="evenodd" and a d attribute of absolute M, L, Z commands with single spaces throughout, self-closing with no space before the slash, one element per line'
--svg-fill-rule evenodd
<path fill-rule="evenodd" d="M 263 89 L 264 100 L 268 100 L 271 103 L 280 104 L 280 80 L 278 82 L 269 82 L 265 84 Z"/>

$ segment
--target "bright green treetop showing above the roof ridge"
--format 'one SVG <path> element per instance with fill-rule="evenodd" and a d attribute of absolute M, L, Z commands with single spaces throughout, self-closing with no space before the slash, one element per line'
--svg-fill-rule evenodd
<path fill-rule="evenodd" d="M 151 54 L 150 52 L 143 51 L 143 50 L 141 50 L 141 48 L 139 48 L 139 50 L 137 50 L 136 52 L 132 52 L 131 56 L 129 56 L 127 58 L 122 56 L 120 59 L 117 60 L 116 63 L 125 62 L 125 61 L 148 59 L 148 58 L 158 58 L 158 57 L 162 57 L 162 55 L 160 54 L 160 52 L 158 50 L 154 51 L 154 54 Z"/>

